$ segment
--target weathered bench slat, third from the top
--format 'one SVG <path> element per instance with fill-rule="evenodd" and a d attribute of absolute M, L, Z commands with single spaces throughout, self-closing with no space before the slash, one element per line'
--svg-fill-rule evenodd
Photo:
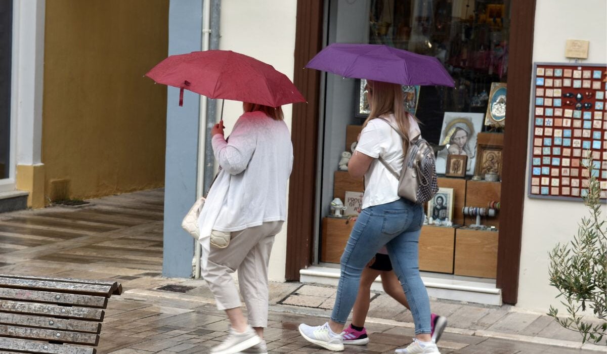
<path fill-rule="evenodd" d="M 104 296 L 56 293 L 52 291 L 29 289 L 0 288 L 0 299 L 48 302 L 50 304 L 80 305 L 98 308 L 107 307 L 107 298 Z"/>

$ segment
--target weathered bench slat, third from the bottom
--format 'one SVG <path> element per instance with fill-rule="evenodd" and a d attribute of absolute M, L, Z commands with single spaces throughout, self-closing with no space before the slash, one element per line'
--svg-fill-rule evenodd
<path fill-rule="evenodd" d="M 83 321 L 81 319 L 21 315 L 19 313 L 0 312 L 0 324 L 13 324 L 26 327 L 49 328 L 52 330 L 70 330 L 87 333 L 101 332 L 101 322 Z"/>

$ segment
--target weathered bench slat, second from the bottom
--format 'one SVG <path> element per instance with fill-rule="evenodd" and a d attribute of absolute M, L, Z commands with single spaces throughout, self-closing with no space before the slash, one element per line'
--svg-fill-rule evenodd
<path fill-rule="evenodd" d="M 2 324 L 0 324 L 0 336 L 84 345 L 97 345 L 99 342 L 99 335 L 92 333 L 57 331 Z"/>

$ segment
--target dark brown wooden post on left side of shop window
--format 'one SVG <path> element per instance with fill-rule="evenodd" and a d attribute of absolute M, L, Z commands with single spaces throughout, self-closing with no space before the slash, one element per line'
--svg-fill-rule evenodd
<path fill-rule="evenodd" d="M 323 0 L 297 1 L 293 82 L 308 103 L 293 105 L 294 162 L 289 182 L 285 268 L 288 281 L 299 281 L 299 270 L 313 259 L 320 72 L 304 67 L 322 49 L 323 4 Z"/>

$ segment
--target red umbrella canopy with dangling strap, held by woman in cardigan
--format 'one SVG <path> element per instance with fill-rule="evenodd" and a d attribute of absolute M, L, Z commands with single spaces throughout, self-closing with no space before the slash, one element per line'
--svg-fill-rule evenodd
<path fill-rule="evenodd" d="M 209 98 L 265 106 L 305 102 L 295 85 L 273 66 L 231 50 L 205 50 L 171 55 L 146 76 L 157 83 L 180 87 Z"/>

